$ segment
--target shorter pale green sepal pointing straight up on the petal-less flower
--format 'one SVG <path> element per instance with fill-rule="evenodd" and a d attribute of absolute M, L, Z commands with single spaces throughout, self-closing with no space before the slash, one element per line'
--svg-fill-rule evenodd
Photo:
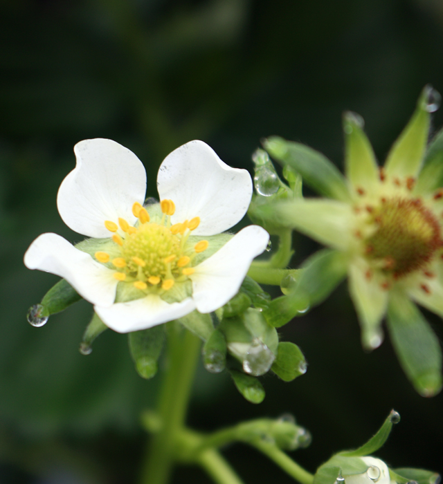
<path fill-rule="evenodd" d="M 374 150 L 362 127 L 363 120 L 359 115 L 345 113 L 345 173 L 354 188 L 371 192 L 374 185 L 379 184 L 379 167 Z"/>

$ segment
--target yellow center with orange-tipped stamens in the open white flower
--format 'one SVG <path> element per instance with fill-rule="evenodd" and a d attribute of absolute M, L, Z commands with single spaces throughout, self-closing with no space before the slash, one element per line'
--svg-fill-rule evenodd
<path fill-rule="evenodd" d="M 144 292 L 170 290 L 177 281 L 186 281 L 195 272 L 193 259 L 208 248 L 208 241 L 199 241 L 194 247 L 188 243 L 190 232 L 199 226 L 199 217 L 171 225 L 174 202 L 163 200 L 160 207 L 161 221 L 151 221 L 145 207 L 137 202 L 132 206 L 132 213 L 138 218 L 136 226 L 124 218 L 118 219 L 118 225 L 105 221 L 105 227 L 114 232 L 112 240 L 119 255 L 111 259 L 107 252 L 95 254 L 97 261 L 112 263 L 118 281 L 132 283 Z"/>

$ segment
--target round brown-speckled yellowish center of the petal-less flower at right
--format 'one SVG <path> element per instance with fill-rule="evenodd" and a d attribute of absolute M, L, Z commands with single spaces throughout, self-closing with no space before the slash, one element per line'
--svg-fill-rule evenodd
<path fill-rule="evenodd" d="M 384 200 L 370 222 L 377 230 L 365 239 L 365 253 L 395 278 L 424 268 L 442 245 L 437 218 L 419 199 Z"/>

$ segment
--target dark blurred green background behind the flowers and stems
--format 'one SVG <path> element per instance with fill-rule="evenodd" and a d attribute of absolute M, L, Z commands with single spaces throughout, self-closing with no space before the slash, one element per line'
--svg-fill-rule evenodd
<path fill-rule="evenodd" d="M 274 134 L 341 167 L 341 113 L 350 109 L 383 161 L 423 86 L 443 91 L 442 52 L 441 0 L 3 0 L 0 483 L 134 483 L 146 440 L 138 416 L 161 379 L 138 377 L 125 335 L 107 331 L 91 355 L 79 353 L 91 317 L 84 301 L 42 328 L 26 322 L 58 279 L 27 270 L 26 248 L 42 232 L 81 239 L 55 203 L 76 142 L 111 138 L 132 149 L 156 196 L 164 156 L 192 139 L 250 171 L 260 138 Z M 440 129 L 442 113 L 433 120 Z M 294 248 L 298 266 L 316 246 L 298 236 Z M 441 320 L 426 316 L 442 337 Z M 415 393 L 388 339 L 362 351 L 345 286 L 281 333 L 304 351 L 307 373 L 262 378 L 266 399 L 254 406 L 227 375 L 199 369 L 191 425 L 293 413 L 313 435 L 293 457 L 314 472 L 395 408 L 401 423 L 377 455 L 443 472 L 443 396 Z M 243 445 L 225 455 L 247 483 L 293 482 Z M 181 467 L 174 483 L 184 482 L 210 481 Z"/>

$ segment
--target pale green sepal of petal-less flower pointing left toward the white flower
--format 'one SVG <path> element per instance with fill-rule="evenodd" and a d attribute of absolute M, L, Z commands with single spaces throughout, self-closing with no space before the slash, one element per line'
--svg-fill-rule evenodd
<path fill-rule="evenodd" d="M 291 227 L 330 245 L 346 251 L 352 242 L 354 212 L 347 203 L 325 198 L 292 200 L 257 207 L 263 218 Z"/>

